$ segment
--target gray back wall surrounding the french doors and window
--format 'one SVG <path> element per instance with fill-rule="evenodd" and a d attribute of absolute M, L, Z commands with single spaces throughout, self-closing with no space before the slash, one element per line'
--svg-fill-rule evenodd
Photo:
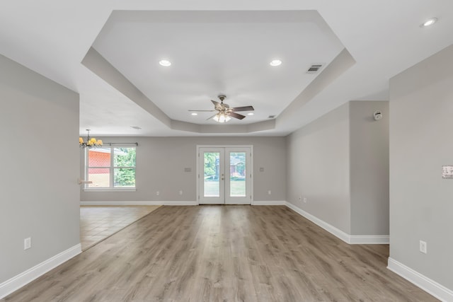
<path fill-rule="evenodd" d="M 99 137 L 96 137 L 99 139 Z M 253 145 L 253 199 L 285 200 L 284 137 L 105 137 L 138 142 L 136 192 L 81 192 L 81 201 L 196 201 L 197 145 Z M 81 175 L 84 173 L 81 151 Z M 192 172 L 184 172 L 192 168 Z M 264 168 L 260 172 L 259 168 Z M 183 191 L 183 195 L 179 191 Z M 271 190 L 272 194 L 268 194 Z M 159 196 L 156 195 L 159 191 Z"/>

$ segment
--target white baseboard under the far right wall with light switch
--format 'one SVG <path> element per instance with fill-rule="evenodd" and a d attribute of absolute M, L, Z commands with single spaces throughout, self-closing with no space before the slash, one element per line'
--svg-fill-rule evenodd
<path fill-rule="evenodd" d="M 392 272 L 400 275 L 404 279 L 411 281 L 416 286 L 426 291 L 428 294 L 435 296 L 440 301 L 453 301 L 453 291 L 447 287 L 438 284 L 436 281 L 416 272 L 411 267 L 406 267 L 401 262 L 398 262 L 389 257 L 389 265 L 387 266 Z"/>

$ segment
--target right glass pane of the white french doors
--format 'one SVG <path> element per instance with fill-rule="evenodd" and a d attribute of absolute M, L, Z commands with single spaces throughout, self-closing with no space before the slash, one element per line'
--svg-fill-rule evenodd
<path fill-rule="evenodd" d="M 246 197 L 246 153 L 229 153 L 229 196 Z"/>

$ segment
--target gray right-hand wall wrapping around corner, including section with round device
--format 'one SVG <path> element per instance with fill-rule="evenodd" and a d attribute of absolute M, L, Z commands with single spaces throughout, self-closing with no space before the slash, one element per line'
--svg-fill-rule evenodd
<path fill-rule="evenodd" d="M 388 235 L 389 103 L 349 102 L 290 134 L 287 201 L 347 234 Z"/>

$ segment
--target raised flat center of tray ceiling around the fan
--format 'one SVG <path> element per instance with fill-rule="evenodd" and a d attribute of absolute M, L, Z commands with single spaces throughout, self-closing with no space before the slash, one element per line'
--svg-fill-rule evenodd
<path fill-rule="evenodd" d="M 253 105 L 248 124 L 279 115 L 343 50 L 316 11 L 114 11 L 93 44 L 172 120 L 214 124 L 210 100 Z M 281 59 L 280 66 L 270 62 Z M 164 67 L 159 60 L 168 59 Z"/>

